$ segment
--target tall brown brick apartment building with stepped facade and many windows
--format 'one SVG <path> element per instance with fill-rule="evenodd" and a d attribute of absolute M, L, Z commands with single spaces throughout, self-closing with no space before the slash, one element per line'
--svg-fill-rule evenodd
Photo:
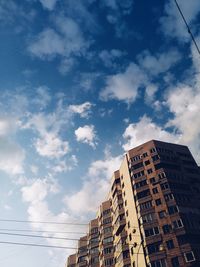
<path fill-rule="evenodd" d="M 189 149 L 152 140 L 128 151 L 66 266 L 200 267 L 200 170 Z"/>

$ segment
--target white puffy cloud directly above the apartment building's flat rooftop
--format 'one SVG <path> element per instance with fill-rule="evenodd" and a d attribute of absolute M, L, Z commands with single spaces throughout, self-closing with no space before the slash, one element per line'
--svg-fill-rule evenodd
<path fill-rule="evenodd" d="M 123 138 L 126 143 L 123 148 L 127 151 L 151 139 L 178 143 L 180 137 L 178 134 L 170 133 L 165 127 L 157 125 L 151 118 L 143 116 L 137 123 L 129 124 L 125 129 Z"/>

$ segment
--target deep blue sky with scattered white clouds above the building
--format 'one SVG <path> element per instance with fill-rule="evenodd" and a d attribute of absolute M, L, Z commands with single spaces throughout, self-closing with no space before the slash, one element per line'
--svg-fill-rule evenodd
<path fill-rule="evenodd" d="M 75 2 L 0 1 L 1 219 L 88 221 L 123 153 L 149 139 L 186 144 L 200 162 L 200 56 L 174 1 Z M 179 2 L 200 45 L 200 2 Z M 61 267 L 71 252 L 0 246 L 6 267 Z"/>

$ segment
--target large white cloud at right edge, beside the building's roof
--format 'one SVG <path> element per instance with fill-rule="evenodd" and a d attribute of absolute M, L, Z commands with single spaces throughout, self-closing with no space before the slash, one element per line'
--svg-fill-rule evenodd
<path fill-rule="evenodd" d="M 200 39 L 197 38 L 197 41 Z M 168 105 L 173 117 L 167 126 L 180 132 L 180 143 L 188 145 L 198 163 L 200 163 L 200 75 L 199 54 L 194 45 L 191 47 L 193 60 L 192 75 L 188 75 L 184 83 L 171 86 L 166 95 Z M 196 73 L 196 74 L 194 74 Z"/>

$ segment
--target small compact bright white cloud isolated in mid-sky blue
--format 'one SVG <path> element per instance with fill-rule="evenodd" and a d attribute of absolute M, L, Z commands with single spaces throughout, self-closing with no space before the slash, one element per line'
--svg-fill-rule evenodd
<path fill-rule="evenodd" d="M 93 148 L 96 147 L 97 136 L 96 131 L 94 129 L 94 125 L 85 125 L 83 127 L 79 127 L 75 130 L 76 140 L 78 142 L 86 143 L 92 146 Z"/>

